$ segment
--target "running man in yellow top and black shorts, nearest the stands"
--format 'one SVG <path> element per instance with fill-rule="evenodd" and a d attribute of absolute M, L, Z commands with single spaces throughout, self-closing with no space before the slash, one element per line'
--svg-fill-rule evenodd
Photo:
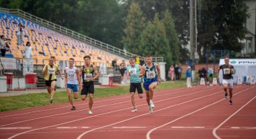
<path fill-rule="evenodd" d="M 56 86 L 56 72 L 60 75 L 60 78 L 63 80 L 63 77 L 61 76 L 60 69 L 57 65 L 54 64 L 54 56 L 51 56 L 49 59 L 49 64 L 45 65 L 43 68 L 43 77 L 46 80 L 46 88 L 49 94 L 51 94 L 51 99 L 49 100 L 49 103 L 53 103 L 53 97 L 55 93 L 55 86 Z"/>

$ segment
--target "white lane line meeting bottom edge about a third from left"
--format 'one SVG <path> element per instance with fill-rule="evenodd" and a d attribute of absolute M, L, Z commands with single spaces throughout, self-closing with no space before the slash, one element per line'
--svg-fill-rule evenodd
<path fill-rule="evenodd" d="M 191 101 L 199 100 L 199 99 L 201 99 L 201 98 L 208 97 L 208 96 L 212 96 L 212 95 L 214 95 L 214 94 L 219 94 L 220 92 L 222 92 L 222 91 L 218 91 L 218 92 L 213 93 L 213 94 L 208 94 L 208 95 L 205 95 L 205 96 L 203 96 L 203 97 L 198 97 L 198 98 L 193 99 L 193 100 L 188 100 L 188 101 L 185 101 L 184 103 L 190 103 Z M 180 106 L 180 105 L 182 105 L 182 104 L 184 104 L 184 103 L 178 103 L 178 104 L 175 104 L 175 105 L 172 105 L 172 106 L 168 106 L 168 107 L 166 107 L 166 108 L 164 108 L 164 109 L 158 109 L 157 111 L 163 111 L 163 110 L 165 110 L 165 109 L 169 109 L 169 108 L 172 108 L 172 107 L 174 107 L 174 106 Z M 157 111 L 154 111 L 154 112 L 157 112 Z M 142 116 L 147 115 L 147 114 L 149 114 L 149 113 L 140 114 L 140 115 L 138 115 L 138 116 L 136 116 L 136 117 L 131 117 L 131 118 L 128 118 L 128 119 L 126 119 L 126 120 L 120 120 L 119 122 L 116 122 L 116 123 L 111 123 L 111 124 L 106 125 L 106 126 L 102 126 L 102 127 L 96 128 L 96 129 L 91 129 L 91 130 L 89 130 L 89 131 L 87 131 L 87 132 L 84 132 L 84 133 L 82 133 L 81 135 L 79 135 L 77 139 L 81 139 L 84 135 L 88 134 L 89 132 L 93 132 L 93 131 L 98 130 L 98 129 L 103 129 L 103 128 L 107 127 L 107 126 L 113 126 L 113 125 L 116 125 L 116 124 L 118 124 L 118 123 L 123 123 L 123 122 L 125 122 L 125 121 L 132 120 L 132 119 L 135 119 L 135 118 L 137 118 L 137 117 L 142 117 Z"/>

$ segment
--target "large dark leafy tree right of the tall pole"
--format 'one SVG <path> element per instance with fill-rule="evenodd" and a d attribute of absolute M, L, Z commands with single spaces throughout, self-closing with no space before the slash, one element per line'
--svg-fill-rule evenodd
<path fill-rule="evenodd" d="M 206 50 L 240 52 L 246 35 L 247 7 L 243 0 L 202 1 L 202 21 L 198 25 L 197 52 L 204 61 Z"/>

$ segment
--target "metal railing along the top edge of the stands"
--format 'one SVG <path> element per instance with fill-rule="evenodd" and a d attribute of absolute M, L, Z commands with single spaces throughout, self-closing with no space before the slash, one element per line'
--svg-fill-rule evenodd
<path fill-rule="evenodd" d="M 90 45 L 93 45 L 97 48 L 101 48 L 103 49 L 104 51 L 108 51 L 110 53 L 113 53 L 113 54 L 117 54 L 119 56 L 122 56 L 122 57 L 125 57 L 125 58 L 130 58 L 132 57 L 134 54 L 131 54 L 130 52 L 128 51 L 123 51 L 122 49 L 119 49 L 119 48 L 116 48 L 116 47 L 113 47 L 112 45 L 108 45 L 104 42 L 100 42 L 96 39 L 93 39 L 93 38 L 90 38 L 89 36 L 85 36 L 81 33 L 78 33 L 74 30 L 70 30 L 68 28 L 64 28 L 60 25 L 57 25 L 57 24 L 54 24 L 53 22 L 49 22 L 45 19 L 41 19 L 37 16 L 34 16 L 32 15 L 31 13 L 27 13 L 23 10 L 19 10 L 19 9 L 7 9 L 7 8 L 4 8 L 4 7 L 0 7 L 0 12 L 2 13 L 10 13 L 10 14 L 16 14 L 18 15 L 19 17 L 22 17 L 23 19 L 27 19 L 31 22 L 35 22 L 39 25 L 43 25 L 47 28 L 50 28 L 52 30 L 55 30 L 59 33 L 63 33 L 67 36 L 71 36 L 73 37 L 74 39 L 78 39 L 78 40 L 81 40 L 83 42 L 86 42 L 87 44 L 90 44 Z M 163 56 L 161 57 L 157 57 L 157 58 L 153 58 L 153 59 L 156 59 L 157 61 L 156 62 L 163 62 Z M 160 61 L 162 60 L 162 61 Z"/>

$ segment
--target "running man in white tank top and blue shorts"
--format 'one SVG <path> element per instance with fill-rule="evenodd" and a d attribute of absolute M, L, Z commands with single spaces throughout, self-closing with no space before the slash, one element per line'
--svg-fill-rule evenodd
<path fill-rule="evenodd" d="M 78 83 L 81 84 L 81 80 L 79 77 L 79 70 L 74 65 L 75 59 L 69 59 L 69 66 L 65 68 L 65 85 L 66 85 L 66 94 L 68 95 L 69 102 L 72 106 L 70 110 L 75 110 L 75 106 L 71 97 L 71 92 L 73 91 L 73 95 L 75 99 L 78 99 Z"/>

